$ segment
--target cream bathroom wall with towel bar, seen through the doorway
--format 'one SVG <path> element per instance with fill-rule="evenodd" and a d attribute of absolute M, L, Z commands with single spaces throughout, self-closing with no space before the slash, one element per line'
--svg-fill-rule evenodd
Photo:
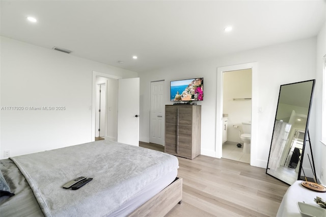
<path fill-rule="evenodd" d="M 239 142 L 239 131 L 243 133 L 241 123 L 251 121 L 251 100 L 233 100 L 233 98 L 251 98 L 251 69 L 223 73 L 223 113 L 228 117 L 228 141 Z M 234 128 L 233 125 L 238 126 Z M 241 142 L 241 141 L 240 141 Z"/>

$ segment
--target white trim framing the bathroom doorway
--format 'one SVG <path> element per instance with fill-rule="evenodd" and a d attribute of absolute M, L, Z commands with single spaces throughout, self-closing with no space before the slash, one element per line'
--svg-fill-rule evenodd
<path fill-rule="evenodd" d="M 223 72 L 242 69 L 252 69 L 252 108 L 251 108 L 251 153 L 250 165 L 255 167 L 265 167 L 262 162 L 257 160 L 258 149 L 258 63 L 245 63 L 233 66 L 218 67 L 217 69 L 217 93 L 216 93 L 216 140 L 215 157 L 222 157 L 222 121 L 223 121 Z"/>

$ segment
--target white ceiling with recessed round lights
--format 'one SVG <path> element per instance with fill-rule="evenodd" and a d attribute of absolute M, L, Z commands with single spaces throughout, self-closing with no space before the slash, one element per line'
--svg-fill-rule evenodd
<path fill-rule="evenodd" d="M 5 37 L 144 72 L 316 36 L 325 21 L 325 4 L 1 0 L 0 30 Z M 27 16 L 38 21 L 28 22 Z M 227 25 L 232 32 L 223 31 Z"/>

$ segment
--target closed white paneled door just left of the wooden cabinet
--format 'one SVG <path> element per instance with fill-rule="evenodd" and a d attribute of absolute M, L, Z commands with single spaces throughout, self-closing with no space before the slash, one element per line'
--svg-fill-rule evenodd
<path fill-rule="evenodd" d="M 164 145 L 164 80 L 151 82 L 149 142 Z"/>

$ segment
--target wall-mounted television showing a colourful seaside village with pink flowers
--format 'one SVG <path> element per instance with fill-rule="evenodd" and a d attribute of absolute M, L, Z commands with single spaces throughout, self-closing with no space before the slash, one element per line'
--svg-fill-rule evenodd
<path fill-rule="evenodd" d="M 171 101 L 202 101 L 204 78 L 172 80 L 170 83 Z"/>

